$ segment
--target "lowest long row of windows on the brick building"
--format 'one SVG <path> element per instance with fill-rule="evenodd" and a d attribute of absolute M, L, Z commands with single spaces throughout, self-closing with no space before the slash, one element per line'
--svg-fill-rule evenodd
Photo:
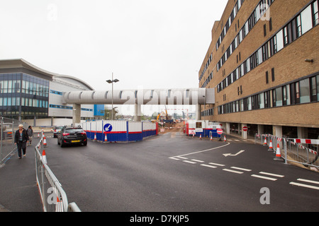
<path fill-rule="evenodd" d="M 218 106 L 218 114 L 319 101 L 319 75 Z"/>

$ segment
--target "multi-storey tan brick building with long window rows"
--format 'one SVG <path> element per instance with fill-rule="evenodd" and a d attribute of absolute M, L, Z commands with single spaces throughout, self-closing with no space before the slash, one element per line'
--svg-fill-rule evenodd
<path fill-rule="evenodd" d="M 318 138 L 318 1 L 228 1 L 198 74 L 216 95 L 202 119 L 228 133 Z"/>

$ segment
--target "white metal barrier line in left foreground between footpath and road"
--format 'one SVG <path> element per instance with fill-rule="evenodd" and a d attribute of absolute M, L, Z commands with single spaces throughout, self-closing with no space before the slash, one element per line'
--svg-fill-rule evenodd
<path fill-rule="evenodd" d="M 43 138 L 42 132 L 40 141 L 35 146 L 35 175 L 43 210 L 45 212 L 81 212 L 76 203 L 68 204 L 67 194 L 65 194 L 55 174 L 47 166 Z"/>

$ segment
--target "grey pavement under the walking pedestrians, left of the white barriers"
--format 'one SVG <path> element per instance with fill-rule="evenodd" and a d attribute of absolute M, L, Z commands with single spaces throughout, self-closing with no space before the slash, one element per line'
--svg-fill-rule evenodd
<path fill-rule="evenodd" d="M 26 157 L 18 153 L 0 168 L 0 212 L 43 212 L 43 205 L 35 177 L 35 144 L 27 146 Z"/>

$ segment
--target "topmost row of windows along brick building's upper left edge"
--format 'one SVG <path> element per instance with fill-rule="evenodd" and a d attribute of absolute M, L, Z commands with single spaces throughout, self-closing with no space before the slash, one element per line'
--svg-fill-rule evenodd
<path fill-rule="evenodd" d="M 245 0 L 238 0 L 237 3 L 235 4 L 235 7 L 233 8 L 232 13 L 230 13 L 230 16 L 226 22 L 225 27 L 223 28 L 223 24 L 220 25 L 223 28 L 223 32 L 220 34 L 220 37 L 218 38 L 218 41 L 216 43 L 216 50 L 220 47 L 220 43 L 223 42 L 223 39 L 230 28 L 230 25 L 235 20 L 235 17 L 237 15 L 238 11 L 240 10 L 240 7 L 244 3 L 244 1 Z M 208 69 L 208 66 L 209 66 L 209 64 L 211 64 L 212 60 L 213 60 L 213 53 L 211 53 L 211 56 L 208 58 L 208 61 L 206 62 L 203 71 L 201 72 L 201 76 L 199 76 L 199 81 L 201 81 L 201 78 L 203 78 L 203 75 L 206 73 L 206 70 Z"/>

